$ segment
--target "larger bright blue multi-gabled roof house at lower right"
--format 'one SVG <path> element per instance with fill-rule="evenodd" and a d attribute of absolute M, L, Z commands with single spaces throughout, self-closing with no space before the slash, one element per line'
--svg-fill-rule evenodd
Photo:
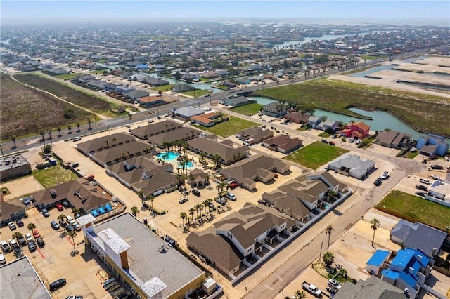
<path fill-rule="evenodd" d="M 405 248 L 397 252 L 389 269 L 381 272 L 381 279 L 404 290 L 409 298 L 416 298 L 430 272 L 430 258 L 425 253 Z"/>

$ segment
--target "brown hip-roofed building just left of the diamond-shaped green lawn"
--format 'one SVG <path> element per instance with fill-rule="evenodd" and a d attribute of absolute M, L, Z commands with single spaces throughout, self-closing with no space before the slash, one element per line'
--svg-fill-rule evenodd
<path fill-rule="evenodd" d="M 256 182 L 269 182 L 274 179 L 274 173 L 285 173 L 289 169 L 289 164 L 280 159 L 255 154 L 233 166 L 222 169 L 221 174 L 226 180 L 233 179 L 241 187 L 255 190 Z"/>

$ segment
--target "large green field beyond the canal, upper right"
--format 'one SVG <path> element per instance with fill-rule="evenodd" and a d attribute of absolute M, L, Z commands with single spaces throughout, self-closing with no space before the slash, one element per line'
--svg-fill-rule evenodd
<path fill-rule="evenodd" d="M 251 95 L 312 105 L 352 117 L 359 117 L 359 114 L 349 111 L 349 107 L 384 110 L 420 131 L 450 135 L 450 100 L 435 95 L 393 91 L 330 79 L 267 88 Z"/>

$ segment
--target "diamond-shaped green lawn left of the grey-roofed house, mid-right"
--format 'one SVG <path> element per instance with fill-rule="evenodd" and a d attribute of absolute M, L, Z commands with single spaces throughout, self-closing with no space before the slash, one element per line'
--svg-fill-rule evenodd
<path fill-rule="evenodd" d="M 348 151 L 340 147 L 316 141 L 289 154 L 283 159 L 293 161 L 308 168 L 317 169 L 328 161 L 331 161 L 346 152 Z"/>

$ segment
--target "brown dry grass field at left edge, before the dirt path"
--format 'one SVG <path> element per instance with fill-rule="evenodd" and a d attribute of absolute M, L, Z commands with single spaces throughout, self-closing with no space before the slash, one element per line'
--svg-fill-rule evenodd
<path fill-rule="evenodd" d="M 83 109 L 74 107 L 67 102 L 29 88 L 14 81 L 6 74 L 0 73 L 0 124 L 1 140 L 11 141 L 8 138 L 37 135 L 41 129 L 65 128 L 68 124 L 86 121 L 87 117 L 93 117 Z M 65 110 L 72 109 L 72 119 L 63 117 Z M 54 130 L 53 130 L 54 131 Z"/>

